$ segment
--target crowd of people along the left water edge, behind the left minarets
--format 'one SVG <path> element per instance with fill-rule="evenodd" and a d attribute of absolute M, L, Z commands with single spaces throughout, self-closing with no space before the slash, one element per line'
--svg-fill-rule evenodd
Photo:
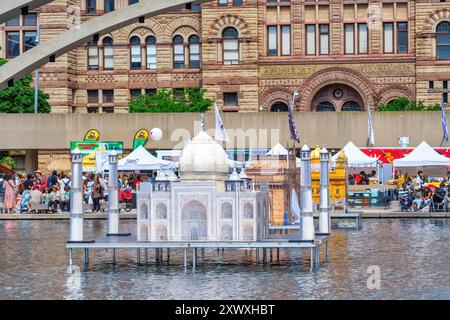
<path fill-rule="evenodd" d="M 93 212 L 102 211 L 108 201 L 108 178 L 98 173 L 83 173 L 83 200 Z M 119 192 L 132 193 L 143 181 L 153 181 L 154 175 L 121 174 Z M 71 176 L 53 171 L 49 176 L 33 174 L 0 174 L 0 213 L 28 213 L 42 206 L 51 213 L 70 211 Z M 38 206 L 40 205 L 40 206 Z"/>

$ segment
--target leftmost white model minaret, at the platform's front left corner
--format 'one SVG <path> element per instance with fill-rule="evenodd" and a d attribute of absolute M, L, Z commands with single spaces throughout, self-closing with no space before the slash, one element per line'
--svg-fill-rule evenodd
<path fill-rule="evenodd" d="M 83 155 L 76 148 L 72 152 L 72 188 L 70 195 L 69 241 L 83 241 Z"/>

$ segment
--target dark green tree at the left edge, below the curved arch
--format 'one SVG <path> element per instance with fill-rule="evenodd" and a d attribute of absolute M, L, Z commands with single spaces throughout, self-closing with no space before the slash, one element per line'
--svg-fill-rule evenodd
<path fill-rule="evenodd" d="M 0 66 L 7 60 L 0 59 Z M 34 88 L 31 86 L 31 75 L 23 77 L 14 86 L 0 90 L 0 113 L 33 113 L 34 112 Z M 49 95 L 38 91 L 38 112 L 49 113 Z"/>

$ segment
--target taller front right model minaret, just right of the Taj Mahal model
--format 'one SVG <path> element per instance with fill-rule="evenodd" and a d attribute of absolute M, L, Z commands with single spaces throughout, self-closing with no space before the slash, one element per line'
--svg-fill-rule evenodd
<path fill-rule="evenodd" d="M 300 171 L 300 223 L 301 240 L 314 241 L 314 216 L 313 199 L 311 187 L 311 150 L 305 144 L 300 151 L 301 171 Z"/>

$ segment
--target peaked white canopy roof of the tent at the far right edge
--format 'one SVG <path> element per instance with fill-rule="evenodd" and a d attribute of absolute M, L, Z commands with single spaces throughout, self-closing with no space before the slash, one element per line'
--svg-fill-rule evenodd
<path fill-rule="evenodd" d="M 450 158 L 435 151 L 428 143 L 422 141 L 410 154 L 394 160 L 394 167 L 450 166 Z"/>

